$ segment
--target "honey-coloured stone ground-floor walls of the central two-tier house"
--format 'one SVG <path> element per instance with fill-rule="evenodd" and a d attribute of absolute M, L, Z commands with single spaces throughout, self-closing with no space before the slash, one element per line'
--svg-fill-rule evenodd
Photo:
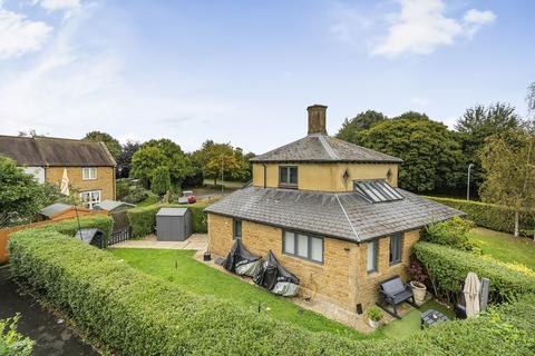
<path fill-rule="evenodd" d="M 208 214 L 208 249 L 226 256 L 233 240 L 233 219 Z M 242 241 L 253 254 L 265 258 L 271 249 L 279 261 L 299 277 L 300 295 L 332 303 L 356 312 L 359 303 L 369 306 L 377 300 L 378 283 L 388 277 L 406 277 L 405 269 L 410 249 L 418 240 L 418 231 L 405 234 L 401 263 L 389 266 L 389 237 L 379 240 L 378 271 L 368 275 L 367 244 L 356 244 L 334 238 L 324 239 L 323 264 L 282 254 L 282 234 L 279 227 L 253 221 L 242 221 Z"/>

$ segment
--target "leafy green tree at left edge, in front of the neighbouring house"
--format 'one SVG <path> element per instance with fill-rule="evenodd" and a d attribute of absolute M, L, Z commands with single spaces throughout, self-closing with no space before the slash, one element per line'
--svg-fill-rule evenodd
<path fill-rule="evenodd" d="M 59 187 L 39 184 L 2 156 L 0 187 L 0 227 L 29 222 L 40 209 L 60 198 Z"/>

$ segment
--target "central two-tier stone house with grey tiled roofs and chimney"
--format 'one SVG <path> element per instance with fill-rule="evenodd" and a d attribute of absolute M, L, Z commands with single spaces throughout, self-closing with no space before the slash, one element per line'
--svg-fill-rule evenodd
<path fill-rule="evenodd" d="M 401 159 L 329 137 L 325 111 L 309 107 L 308 136 L 251 159 L 252 185 L 205 209 L 208 249 L 271 249 L 303 296 L 356 313 L 407 278 L 421 227 L 461 212 L 398 188 Z"/>

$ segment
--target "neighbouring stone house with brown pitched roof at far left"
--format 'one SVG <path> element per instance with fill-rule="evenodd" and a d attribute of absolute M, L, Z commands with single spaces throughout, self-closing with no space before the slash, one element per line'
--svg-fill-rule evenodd
<path fill-rule="evenodd" d="M 0 156 L 12 158 L 40 182 L 59 186 L 66 171 L 71 194 L 88 208 L 115 199 L 116 162 L 104 142 L 0 136 Z"/>

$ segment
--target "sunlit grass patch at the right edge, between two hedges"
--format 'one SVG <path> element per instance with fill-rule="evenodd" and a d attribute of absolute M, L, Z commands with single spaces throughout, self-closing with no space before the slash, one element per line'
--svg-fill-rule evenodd
<path fill-rule="evenodd" d="M 535 270 L 535 243 L 532 239 L 479 227 L 471 229 L 468 238 L 478 244 L 485 255 Z"/>

